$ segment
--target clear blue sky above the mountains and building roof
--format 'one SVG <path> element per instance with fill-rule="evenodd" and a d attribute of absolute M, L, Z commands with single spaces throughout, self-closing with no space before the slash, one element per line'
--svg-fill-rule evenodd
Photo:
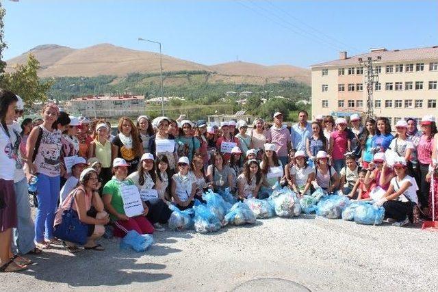
<path fill-rule="evenodd" d="M 201 64 L 238 59 L 307 67 L 372 47 L 438 45 L 438 1 L 2 1 L 4 59 L 39 44 L 103 42 Z M 434 38 L 435 36 L 435 38 Z"/>

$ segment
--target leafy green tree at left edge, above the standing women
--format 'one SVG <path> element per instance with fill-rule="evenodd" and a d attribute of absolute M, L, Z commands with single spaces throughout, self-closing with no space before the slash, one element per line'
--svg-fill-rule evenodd
<path fill-rule="evenodd" d="M 17 65 L 13 72 L 1 77 L 1 88 L 18 94 L 27 105 L 33 102 L 47 101 L 47 92 L 53 85 L 53 79 L 41 81 L 37 75 L 40 62 L 32 54 L 27 55 L 27 63 Z"/>

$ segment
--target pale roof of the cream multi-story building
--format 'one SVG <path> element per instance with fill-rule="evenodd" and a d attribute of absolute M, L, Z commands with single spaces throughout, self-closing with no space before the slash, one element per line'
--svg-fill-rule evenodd
<path fill-rule="evenodd" d="M 377 56 L 381 56 L 380 61 L 375 63 L 386 63 L 386 62 L 402 62 L 402 61 L 413 61 L 422 59 L 438 59 L 438 46 L 428 47 L 428 48 L 417 48 L 417 49 L 404 49 L 404 50 L 392 50 L 387 51 L 386 49 L 375 51 L 372 49 L 370 53 L 365 53 L 362 55 L 355 55 L 352 57 L 347 57 L 346 59 L 335 59 L 330 62 L 324 62 L 319 64 L 311 65 L 311 67 L 328 67 L 328 66 L 347 66 L 347 65 L 357 65 L 359 64 L 359 57 L 366 60 L 368 57 L 372 59 L 377 59 Z"/>

